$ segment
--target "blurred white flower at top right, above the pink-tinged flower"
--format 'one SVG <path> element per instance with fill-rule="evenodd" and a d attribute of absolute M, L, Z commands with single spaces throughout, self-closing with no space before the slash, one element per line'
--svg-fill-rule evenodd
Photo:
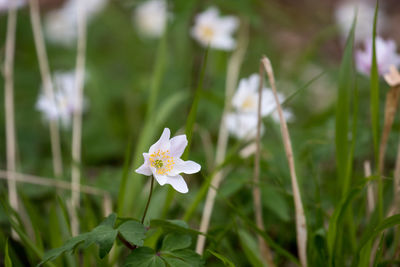
<path fill-rule="evenodd" d="M 339 26 L 343 40 L 346 40 L 350 32 L 356 11 L 355 41 L 360 42 L 372 37 L 375 6 L 365 3 L 365 1 L 344 1 L 335 11 L 336 23 Z M 385 17 L 381 11 L 378 11 L 378 18 L 377 32 L 379 33 L 385 24 Z"/>

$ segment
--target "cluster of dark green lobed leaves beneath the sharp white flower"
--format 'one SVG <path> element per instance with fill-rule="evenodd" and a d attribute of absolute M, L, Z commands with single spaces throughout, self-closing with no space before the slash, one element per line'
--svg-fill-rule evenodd
<path fill-rule="evenodd" d="M 117 219 L 120 221 L 119 223 L 117 223 Z M 63 246 L 46 252 L 38 266 L 56 259 L 63 253 L 73 253 L 78 247 L 85 249 L 92 244 L 99 246 L 99 256 L 104 258 L 110 252 L 117 237 L 123 242 L 129 243 L 132 249 L 124 266 L 204 265 L 201 256 L 189 248 L 192 237 L 187 233 L 195 231 L 188 229 L 185 222 L 156 220 L 153 227 L 156 226 L 176 231 L 170 232 L 164 237 L 159 251 L 150 247 L 142 247 L 147 233 L 147 228 L 142 223 L 131 219 L 119 219 L 113 213 L 91 232 L 73 237 Z"/>

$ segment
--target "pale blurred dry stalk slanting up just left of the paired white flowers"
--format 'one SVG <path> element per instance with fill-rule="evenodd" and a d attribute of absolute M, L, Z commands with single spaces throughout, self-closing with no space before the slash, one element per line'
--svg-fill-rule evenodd
<path fill-rule="evenodd" d="M 235 86 L 239 77 L 240 66 L 242 65 L 244 55 L 247 50 L 248 44 L 248 33 L 247 27 L 244 27 L 240 32 L 238 48 L 232 54 L 228 62 L 228 70 L 226 77 L 226 88 L 225 88 L 225 106 L 222 114 L 222 119 L 218 133 L 217 151 L 215 156 L 215 166 L 221 164 L 225 159 L 226 147 L 228 144 L 228 130 L 225 127 L 225 118 L 230 110 L 231 98 L 235 90 Z M 203 214 L 200 223 L 200 232 L 207 233 L 210 224 L 212 210 L 214 208 L 215 197 L 221 181 L 224 178 L 223 170 L 218 171 L 211 180 L 211 186 L 208 189 L 206 203 L 203 209 Z M 203 254 L 204 246 L 206 243 L 206 237 L 200 235 L 196 243 L 196 252 L 200 255 Z"/>

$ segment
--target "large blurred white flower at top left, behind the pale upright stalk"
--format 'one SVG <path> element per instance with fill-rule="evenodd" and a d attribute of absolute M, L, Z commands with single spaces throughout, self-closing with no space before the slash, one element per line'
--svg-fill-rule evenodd
<path fill-rule="evenodd" d="M 69 0 L 62 8 L 46 14 L 44 29 L 49 41 L 68 47 L 76 45 L 78 34 L 77 1 L 79 0 Z M 105 7 L 107 0 L 84 0 L 84 3 L 86 20 L 89 22 Z"/>

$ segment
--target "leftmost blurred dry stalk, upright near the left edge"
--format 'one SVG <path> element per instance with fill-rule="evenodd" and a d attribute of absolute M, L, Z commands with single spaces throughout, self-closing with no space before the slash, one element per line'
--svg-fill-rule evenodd
<path fill-rule="evenodd" d="M 15 120 L 14 120 L 14 54 L 15 33 L 17 28 L 17 10 L 10 8 L 7 19 L 7 36 L 4 62 L 4 106 L 6 115 L 6 150 L 8 174 L 8 199 L 11 207 L 18 211 L 17 183 L 13 172 L 15 171 Z M 17 237 L 13 232 L 13 237 Z"/>

